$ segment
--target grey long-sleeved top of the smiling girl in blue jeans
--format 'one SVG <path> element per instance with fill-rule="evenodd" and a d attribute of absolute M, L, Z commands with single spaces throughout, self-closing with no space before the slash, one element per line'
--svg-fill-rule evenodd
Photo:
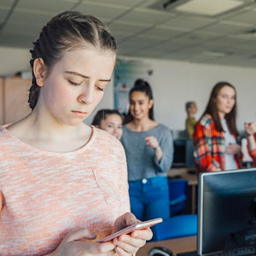
<path fill-rule="evenodd" d="M 157 160 L 155 149 L 147 145 L 147 138 L 154 137 L 163 152 Z M 165 125 L 157 125 L 148 131 L 132 131 L 127 125 L 121 139 L 125 147 L 129 181 L 164 176 L 172 166 L 172 133 Z"/>

